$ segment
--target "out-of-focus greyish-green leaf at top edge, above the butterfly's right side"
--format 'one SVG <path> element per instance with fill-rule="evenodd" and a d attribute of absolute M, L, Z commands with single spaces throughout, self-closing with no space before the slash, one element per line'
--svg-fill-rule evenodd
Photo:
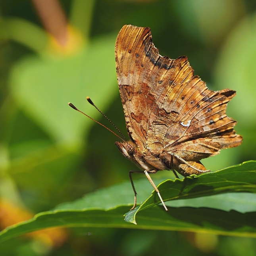
<path fill-rule="evenodd" d="M 174 8 L 178 14 L 185 35 L 208 46 L 218 44 L 245 11 L 242 1 L 232 0 L 181 0 L 170 1 L 170 4 L 171 10 Z"/>

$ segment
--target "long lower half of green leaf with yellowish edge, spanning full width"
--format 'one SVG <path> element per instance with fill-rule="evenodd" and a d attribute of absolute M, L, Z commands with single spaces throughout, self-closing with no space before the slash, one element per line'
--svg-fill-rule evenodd
<path fill-rule="evenodd" d="M 161 206 L 143 211 L 137 217 L 138 225 L 123 221 L 123 213 L 129 207 L 119 206 L 111 210 L 55 210 L 37 214 L 0 232 L 0 241 L 49 227 L 115 227 L 155 230 L 211 232 L 221 235 L 256 237 L 256 212 L 225 212 L 211 208 L 169 208 Z"/>

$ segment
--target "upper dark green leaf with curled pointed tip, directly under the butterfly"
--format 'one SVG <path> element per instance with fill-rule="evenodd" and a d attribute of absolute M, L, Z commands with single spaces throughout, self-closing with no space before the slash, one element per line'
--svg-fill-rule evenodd
<path fill-rule="evenodd" d="M 227 192 L 256 193 L 256 161 L 248 161 L 211 173 L 191 175 L 182 181 L 168 179 L 158 186 L 164 201 L 210 196 Z M 159 204 L 158 194 L 151 196 L 136 210 L 126 214 L 125 221 L 136 224 L 137 212 Z"/>

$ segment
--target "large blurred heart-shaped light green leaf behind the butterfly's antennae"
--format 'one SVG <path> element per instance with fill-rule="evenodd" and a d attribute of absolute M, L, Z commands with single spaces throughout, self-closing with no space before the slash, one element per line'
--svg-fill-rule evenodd
<path fill-rule="evenodd" d="M 17 104 L 56 141 L 68 146 L 82 143 L 85 125 L 92 121 L 72 110 L 90 96 L 104 110 L 118 92 L 115 85 L 115 36 L 94 40 L 75 56 L 54 60 L 31 57 L 15 65 L 11 92 Z M 89 104 L 87 114 L 98 114 Z M 89 129 L 87 129 L 88 131 Z"/>

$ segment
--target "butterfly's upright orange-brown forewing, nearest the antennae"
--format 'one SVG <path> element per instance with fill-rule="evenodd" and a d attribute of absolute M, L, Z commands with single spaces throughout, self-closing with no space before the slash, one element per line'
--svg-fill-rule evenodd
<path fill-rule="evenodd" d="M 149 28 L 131 25 L 123 26 L 117 36 L 115 62 L 127 131 L 143 152 L 156 104 L 166 83 L 172 83 L 166 77 L 181 64 L 158 54 Z"/>

